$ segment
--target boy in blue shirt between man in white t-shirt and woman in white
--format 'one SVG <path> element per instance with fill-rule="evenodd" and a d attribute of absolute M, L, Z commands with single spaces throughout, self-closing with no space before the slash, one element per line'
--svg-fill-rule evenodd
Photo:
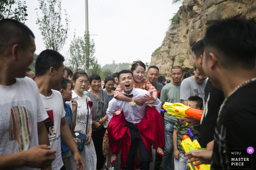
<path fill-rule="evenodd" d="M 62 99 L 63 99 L 63 106 L 65 109 L 65 120 L 71 132 L 74 132 L 76 126 L 76 111 L 77 111 L 77 102 L 75 99 L 72 99 L 72 91 L 71 91 L 71 84 L 69 79 L 64 78 L 61 81 L 60 88 L 54 89 L 60 92 Z M 72 109 L 69 104 L 65 102 L 72 101 Z M 63 164 L 66 170 L 71 170 L 71 150 L 68 149 L 68 146 L 63 142 L 60 138 L 61 142 L 61 157 Z M 78 143 L 75 140 L 76 143 Z"/>

